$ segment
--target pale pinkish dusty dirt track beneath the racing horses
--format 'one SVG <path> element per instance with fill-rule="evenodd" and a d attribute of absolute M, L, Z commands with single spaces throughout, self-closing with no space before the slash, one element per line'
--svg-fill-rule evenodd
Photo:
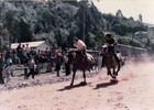
<path fill-rule="evenodd" d="M 154 110 L 154 63 L 125 65 L 118 82 L 105 73 L 82 79 L 0 92 L 0 110 Z"/>

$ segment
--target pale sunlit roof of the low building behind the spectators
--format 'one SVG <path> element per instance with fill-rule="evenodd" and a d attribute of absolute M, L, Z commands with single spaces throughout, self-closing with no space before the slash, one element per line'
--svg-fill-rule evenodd
<path fill-rule="evenodd" d="M 36 42 L 23 42 L 21 43 L 21 46 L 22 45 L 25 45 L 29 44 L 29 47 L 37 47 L 38 45 L 45 43 L 45 41 L 36 41 Z M 19 43 L 12 43 L 11 44 L 11 48 L 16 48 L 19 46 Z"/>

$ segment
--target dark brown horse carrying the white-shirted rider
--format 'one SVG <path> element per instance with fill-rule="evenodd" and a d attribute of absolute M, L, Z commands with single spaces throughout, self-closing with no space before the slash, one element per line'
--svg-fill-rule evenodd
<path fill-rule="evenodd" d="M 77 70 L 82 70 L 84 84 L 86 85 L 86 70 L 90 70 L 90 66 L 94 64 L 94 57 L 90 54 L 87 54 L 87 58 L 77 52 L 68 53 L 68 63 L 73 65 L 73 79 L 70 86 L 74 85 L 74 78 Z"/>

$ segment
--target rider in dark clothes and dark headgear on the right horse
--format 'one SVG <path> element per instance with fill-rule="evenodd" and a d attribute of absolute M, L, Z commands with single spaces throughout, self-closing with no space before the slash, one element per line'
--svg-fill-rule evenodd
<path fill-rule="evenodd" d="M 117 52 L 114 51 L 114 46 L 117 45 L 117 41 L 111 36 L 111 34 L 106 34 L 106 41 L 108 44 L 108 51 L 114 54 L 114 57 L 120 66 L 120 59 L 118 58 Z M 105 67 L 105 55 L 102 55 L 101 67 Z"/>

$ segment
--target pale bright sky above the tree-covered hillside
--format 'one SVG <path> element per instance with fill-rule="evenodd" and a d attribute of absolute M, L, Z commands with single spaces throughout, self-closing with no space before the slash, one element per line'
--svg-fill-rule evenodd
<path fill-rule="evenodd" d="M 154 0 L 92 0 L 98 10 L 102 13 L 116 15 L 121 10 L 125 18 L 132 16 L 139 20 L 142 14 L 144 23 L 154 24 Z"/>

